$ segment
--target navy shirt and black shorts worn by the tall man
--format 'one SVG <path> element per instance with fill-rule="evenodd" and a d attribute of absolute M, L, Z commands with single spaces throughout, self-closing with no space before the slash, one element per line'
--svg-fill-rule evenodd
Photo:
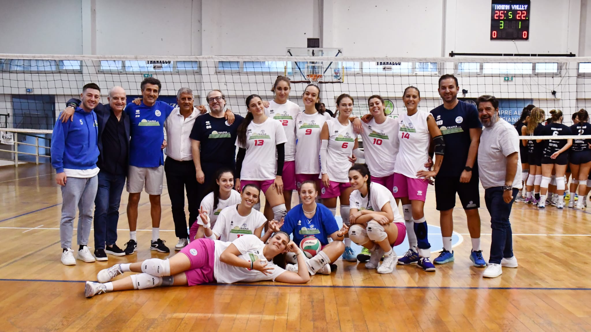
<path fill-rule="evenodd" d="M 437 126 L 446 143 L 445 158 L 435 178 L 435 200 L 437 210 L 444 211 L 456 206 L 456 193 L 466 210 L 480 207 L 478 191 L 478 164 L 474 161 L 469 183 L 460 183 L 460 175 L 466 167 L 470 149 L 470 129 L 482 128 L 476 106 L 457 102 L 453 109 L 443 105 L 431 110 Z"/>

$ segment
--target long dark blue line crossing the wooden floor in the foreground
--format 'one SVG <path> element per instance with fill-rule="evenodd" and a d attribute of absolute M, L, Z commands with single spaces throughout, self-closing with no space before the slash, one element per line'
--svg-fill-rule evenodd
<path fill-rule="evenodd" d="M 25 282 L 86 282 L 83 280 L 44 280 L 44 279 L 0 279 L 0 281 L 25 281 Z M 261 284 L 203 284 L 203 286 L 238 286 L 238 287 L 300 287 L 300 288 L 376 288 L 376 289 L 517 289 L 524 291 L 591 291 L 591 288 L 560 288 L 560 287 L 430 287 L 430 286 L 337 286 L 337 285 L 261 285 Z"/>

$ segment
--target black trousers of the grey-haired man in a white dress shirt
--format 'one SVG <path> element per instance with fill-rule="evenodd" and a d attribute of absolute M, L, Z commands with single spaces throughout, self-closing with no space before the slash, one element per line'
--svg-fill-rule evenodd
<path fill-rule="evenodd" d="M 174 233 L 179 239 L 187 239 L 187 218 L 184 213 L 184 192 L 187 190 L 189 203 L 189 225 L 192 225 L 199 216 L 199 204 L 197 201 L 197 178 L 195 164 L 192 160 L 178 161 L 166 158 L 164 162 L 164 174 L 168 185 L 168 195 L 173 210 Z"/>

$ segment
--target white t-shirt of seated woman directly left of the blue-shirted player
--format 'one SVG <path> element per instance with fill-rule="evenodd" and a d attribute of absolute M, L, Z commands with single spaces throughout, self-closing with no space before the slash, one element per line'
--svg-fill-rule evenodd
<path fill-rule="evenodd" d="M 236 205 L 223 209 L 212 228 L 215 236 L 222 241 L 233 241 L 243 235 L 254 234 L 255 229 L 267 222 L 265 215 L 255 209 L 248 216 L 241 216 Z"/>

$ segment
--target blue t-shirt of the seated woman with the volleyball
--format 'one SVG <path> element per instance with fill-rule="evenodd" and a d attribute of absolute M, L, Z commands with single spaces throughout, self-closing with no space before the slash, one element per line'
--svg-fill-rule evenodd
<path fill-rule="evenodd" d="M 298 246 L 306 236 L 316 237 L 324 246 L 329 244 L 327 237 L 337 232 L 339 225 L 337 225 L 332 212 L 323 204 L 317 204 L 316 214 L 312 219 L 306 217 L 302 204 L 299 204 L 285 214 L 281 230 L 293 234 L 294 242 Z"/>

